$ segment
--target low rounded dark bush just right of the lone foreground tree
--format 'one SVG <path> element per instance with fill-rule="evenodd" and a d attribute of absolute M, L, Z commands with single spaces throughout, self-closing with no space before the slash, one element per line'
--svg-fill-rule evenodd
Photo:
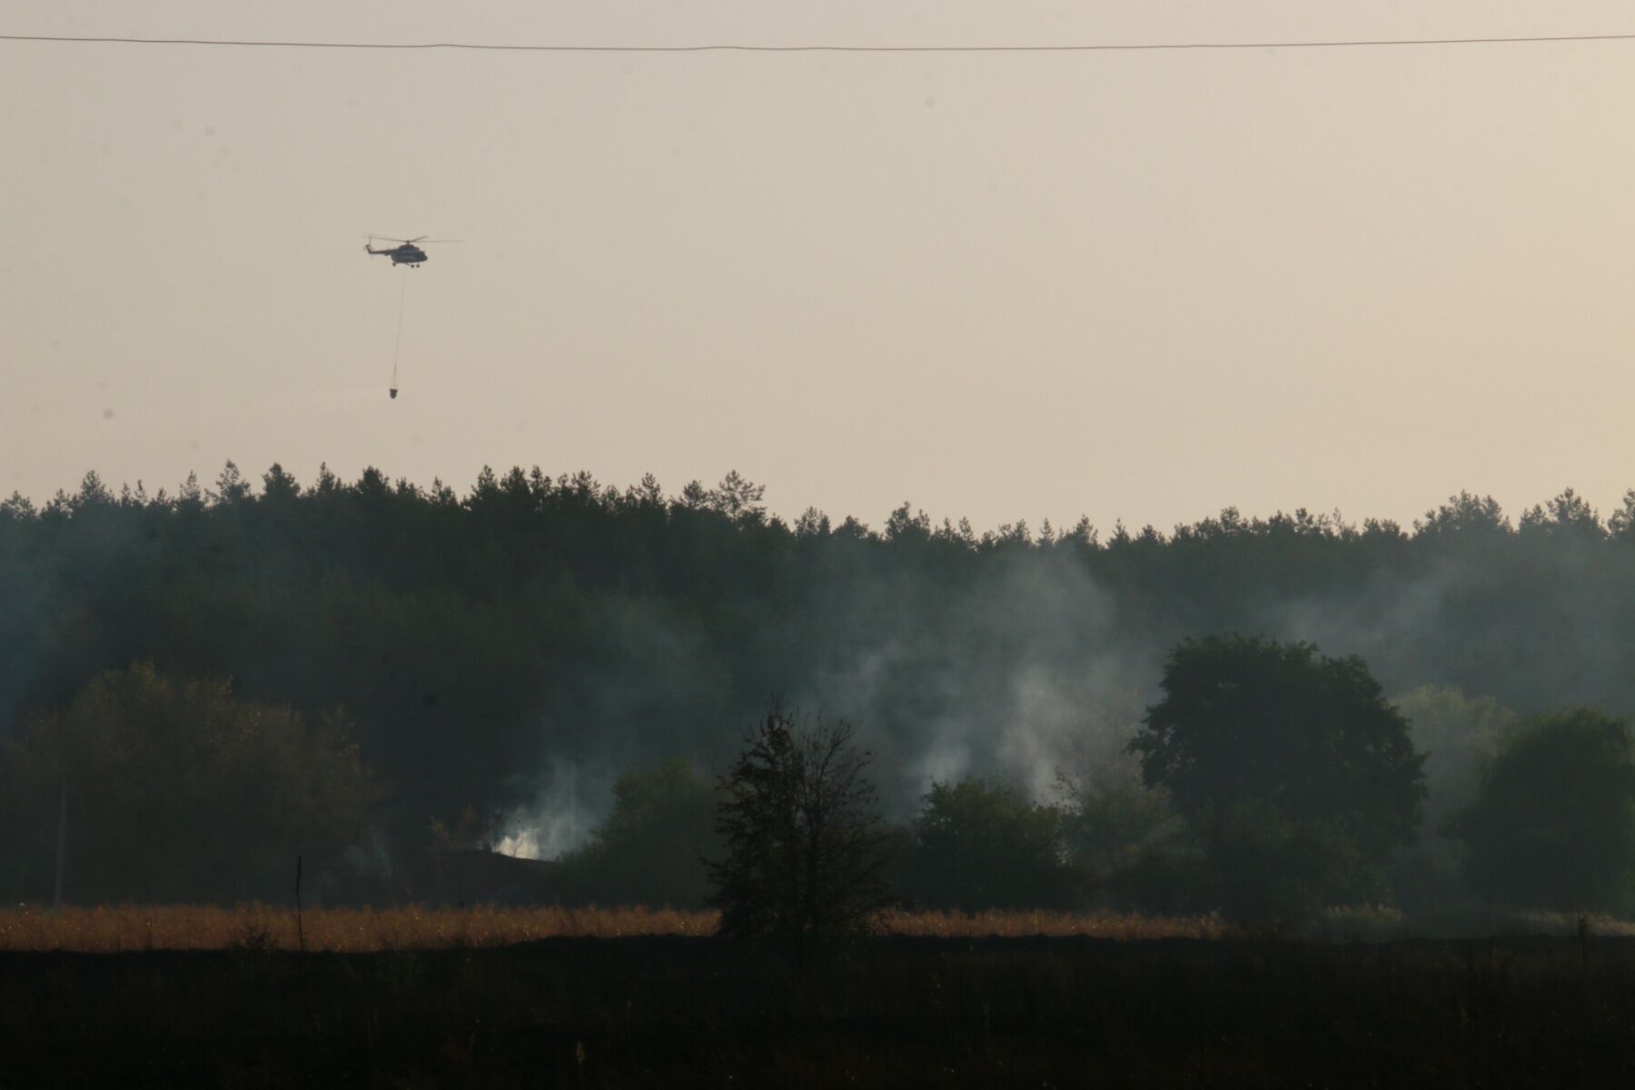
<path fill-rule="evenodd" d="M 914 820 L 911 860 L 911 892 L 929 905 L 1053 909 L 1073 894 L 1061 809 L 1004 783 L 932 783 Z"/>

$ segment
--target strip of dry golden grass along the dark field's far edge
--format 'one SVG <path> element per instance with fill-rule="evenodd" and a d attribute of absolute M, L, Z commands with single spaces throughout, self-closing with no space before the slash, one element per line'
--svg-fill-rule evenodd
<path fill-rule="evenodd" d="M 1064 912 L 893 912 L 883 920 L 893 935 L 945 938 L 1068 936 L 1218 938 L 1210 918 L 1143 918 Z M 623 935 L 710 935 L 714 912 L 670 909 L 314 909 L 301 917 L 307 949 L 373 953 L 383 949 L 450 949 L 508 946 L 536 938 Z M 100 909 L 21 907 L 0 912 L 0 949 L 298 949 L 296 915 L 260 904 L 118 905 Z"/>

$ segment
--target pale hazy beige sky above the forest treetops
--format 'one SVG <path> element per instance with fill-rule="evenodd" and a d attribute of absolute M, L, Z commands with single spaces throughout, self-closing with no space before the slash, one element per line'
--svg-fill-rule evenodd
<path fill-rule="evenodd" d="M 1628 33 L 1624 3 L 82 3 L 3 33 Z M 1635 485 L 1635 41 L 832 56 L 0 42 L 0 494 L 728 469 L 1167 528 Z M 463 239 L 420 271 L 360 232 Z M 402 394 L 386 395 L 407 289 Z"/>

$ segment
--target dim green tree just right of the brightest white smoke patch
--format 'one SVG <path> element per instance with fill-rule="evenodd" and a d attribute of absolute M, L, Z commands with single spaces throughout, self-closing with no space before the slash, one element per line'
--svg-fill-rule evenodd
<path fill-rule="evenodd" d="M 562 882 L 577 900 L 703 905 L 705 858 L 719 855 L 714 788 L 685 757 L 620 776 L 613 812 L 590 843 L 562 860 Z"/>

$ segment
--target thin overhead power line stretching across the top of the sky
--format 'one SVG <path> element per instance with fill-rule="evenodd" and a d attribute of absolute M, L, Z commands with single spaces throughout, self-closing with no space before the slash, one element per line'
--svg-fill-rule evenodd
<path fill-rule="evenodd" d="M 88 38 L 67 34 L 0 34 L 0 41 L 38 41 L 116 46 L 239 46 L 255 49 L 479 49 L 499 52 L 1156 52 L 1182 49 L 1360 49 L 1378 46 L 1516 46 L 1534 42 L 1632 41 L 1630 34 L 1530 34 L 1514 38 L 1357 38 L 1334 41 L 1180 41 L 1081 42 L 1063 46 L 558 46 L 508 42 L 381 42 L 381 41 L 262 41 L 221 38 Z"/>

